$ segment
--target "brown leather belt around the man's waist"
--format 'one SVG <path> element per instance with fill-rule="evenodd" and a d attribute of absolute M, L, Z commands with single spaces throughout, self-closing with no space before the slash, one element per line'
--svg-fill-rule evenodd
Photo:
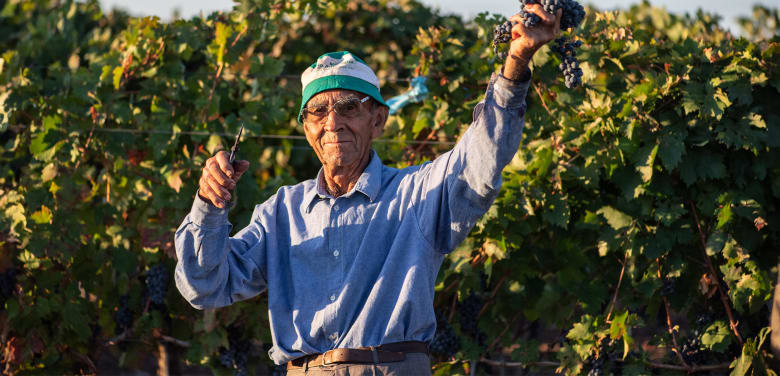
<path fill-rule="evenodd" d="M 324 354 L 310 354 L 287 362 L 287 369 L 309 368 L 335 363 L 392 363 L 406 359 L 407 353 L 428 353 L 425 342 L 387 343 L 357 349 L 333 349 Z"/>

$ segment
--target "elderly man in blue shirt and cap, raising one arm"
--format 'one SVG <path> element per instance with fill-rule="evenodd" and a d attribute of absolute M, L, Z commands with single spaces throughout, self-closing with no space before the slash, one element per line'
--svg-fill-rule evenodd
<path fill-rule="evenodd" d="M 444 255 L 468 235 L 520 145 L 528 63 L 552 40 L 556 16 L 518 16 L 510 53 L 453 150 L 402 170 L 371 150 L 388 108 L 379 81 L 349 52 L 321 56 L 302 76 L 298 120 L 322 169 L 257 205 L 230 237 L 231 190 L 249 167 L 219 152 L 203 168 L 176 232 L 176 286 L 193 307 L 222 307 L 268 289 L 270 357 L 288 374 L 430 374 L 433 295 Z"/>

